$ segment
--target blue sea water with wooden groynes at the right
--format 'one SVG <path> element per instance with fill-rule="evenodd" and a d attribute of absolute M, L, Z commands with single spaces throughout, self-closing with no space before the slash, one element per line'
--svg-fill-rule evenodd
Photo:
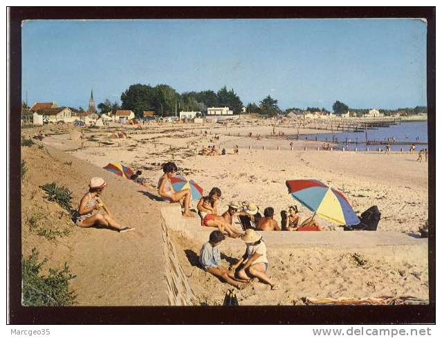
<path fill-rule="evenodd" d="M 307 137 L 308 140 L 318 140 L 321 142 L 331 142 L 333 137 L 338 144 L 331 144 L 333 147 L 346 147 L 346 141 L 348 142 L 358 142 L 358 144 L 349 143 L 347 144 L 348 150 L 354 150 L 355 147 L 358 149 L 365 150 L 369 147 L 371 150 L 376 150 L 378 147 L 380 149 L 385 149 L 385 144 L 375 145 L 370 144 L 365 145 L 365 130 L 360 132 L 338 132 L 338 133 L 322 133 L 322 134 L 309 134 L 306 136 L 300 136 L 301 140 Z M 291 138 L 294 138 L 293 136 Z M 396 142 L 407 142 L 407 143 L 424 143 L 416 144 L 416 150 L 428 149 L 428 131 L 427 131 L 427 121 L 410 121 L 410 122 L 398 122 L 397 124 L 392 124 L 390 126 L 377 128 L 377 129 L 367 129 L 367 140 L 378 141 L 378 142 L 389 142 L 392 151 L 400 151 L 403 148 L 404 151 L 409 150 L 409 144 L 394 144 Z"/>

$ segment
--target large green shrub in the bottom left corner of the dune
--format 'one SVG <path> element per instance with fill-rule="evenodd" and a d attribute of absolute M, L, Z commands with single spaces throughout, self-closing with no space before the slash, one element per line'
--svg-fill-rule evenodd
<path fill-rule="evenodd" d="M 64 263 L 62 270 L 49 269 L 41 274 L 48 259 L 39 261 L 34 248 L 28 258 L 21 260 L 21 303 L 24 306 L 69 306 L 75 303 L 77 295 L 69 290 L 69 281 L 75 276 Z"/>

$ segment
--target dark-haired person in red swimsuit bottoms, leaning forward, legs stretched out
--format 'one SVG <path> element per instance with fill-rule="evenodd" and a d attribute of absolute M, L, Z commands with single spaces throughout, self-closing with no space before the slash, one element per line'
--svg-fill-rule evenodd
<path fill-rule="evenodd" d="M 218 216 L 217 200 L 221 197 L 219 188 L 212 188 L 208 196 L 203 196 L 199 200 L 196 209 L 201 216 L 201 226 L 217 227 L 220 232 L 226 232 L 228 236 L 237 238 L 240 233 L 225 221 L 223 216 Z"/>

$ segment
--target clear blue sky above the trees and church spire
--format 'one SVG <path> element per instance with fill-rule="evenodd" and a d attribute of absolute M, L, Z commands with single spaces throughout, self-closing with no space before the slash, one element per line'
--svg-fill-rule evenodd
<path fill-rule="evenodd" d="M 131 84 L 233 88 L 244 104 L 426 105 L 419 19 L 26 21 L 22 97 L 86 109 Z"/>

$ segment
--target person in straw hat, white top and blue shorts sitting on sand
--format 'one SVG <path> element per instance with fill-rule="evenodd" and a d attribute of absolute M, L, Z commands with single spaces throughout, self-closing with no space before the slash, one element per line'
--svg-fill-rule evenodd
<path fill-rule="evenodd" d="M 234 271 L 239 268 L 237 276 L 240 279 L 248 280 L 257 277 L 262 283 L 270 285 L 271 290 L 279 288 L 279 285 L 272 283 L 266 274 L 268 270 L 267 247 L 261 234 L 255 232 L 254 229 L 246 229 L 241 239 L 246 243 L 246 253 L 230 267 L 230 270 Z"/>

